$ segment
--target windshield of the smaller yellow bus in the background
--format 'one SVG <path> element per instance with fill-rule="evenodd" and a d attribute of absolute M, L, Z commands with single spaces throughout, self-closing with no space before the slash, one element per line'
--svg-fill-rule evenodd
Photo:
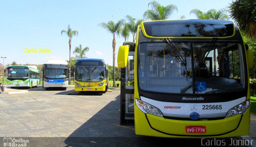
<path fill-rule="evenodd" d="M 77 66 L 75 79 L 79 82 L 100 82 L 104 80 L 104 68 Z"/>

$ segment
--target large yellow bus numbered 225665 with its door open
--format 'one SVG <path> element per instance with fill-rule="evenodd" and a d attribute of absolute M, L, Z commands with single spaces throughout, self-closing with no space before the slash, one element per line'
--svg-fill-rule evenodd
<path fill-rule="evenodd" d="M 121 124 L 156 137 L 249 135 L 252 64 L 231 21 L 142 22 L 118 51 Z"/>

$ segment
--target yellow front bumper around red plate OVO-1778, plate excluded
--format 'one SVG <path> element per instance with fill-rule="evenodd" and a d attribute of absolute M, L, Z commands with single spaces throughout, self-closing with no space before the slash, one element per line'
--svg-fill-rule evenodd
<path fill-rule="evenodd" d="M 144 114 L 134 107 L 135 133 L 137 135 L 176 138 L 214 138 L 249 135 L 250 110 L 221 120 L 189 121 L 171 120 Z M 204 133 L 186 133 L 187 126 L 204 126 Z"/>

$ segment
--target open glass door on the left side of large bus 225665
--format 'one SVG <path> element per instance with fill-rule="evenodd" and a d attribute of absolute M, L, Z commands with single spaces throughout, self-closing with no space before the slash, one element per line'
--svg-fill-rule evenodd
<path fill-rule="evenodd" d="M 120 125 L 134 125 L 134 51 L 128 55 L 126 68 L 121 69 Z"/>

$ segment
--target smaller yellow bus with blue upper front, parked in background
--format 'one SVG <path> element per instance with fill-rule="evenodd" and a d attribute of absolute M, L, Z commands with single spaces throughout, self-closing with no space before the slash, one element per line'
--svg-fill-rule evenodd
<path fill-rule="evenodd" d="M 75 65 L 75 91 L 108 90 L 108 66 L 103 59 L 77 59 Z"/>

